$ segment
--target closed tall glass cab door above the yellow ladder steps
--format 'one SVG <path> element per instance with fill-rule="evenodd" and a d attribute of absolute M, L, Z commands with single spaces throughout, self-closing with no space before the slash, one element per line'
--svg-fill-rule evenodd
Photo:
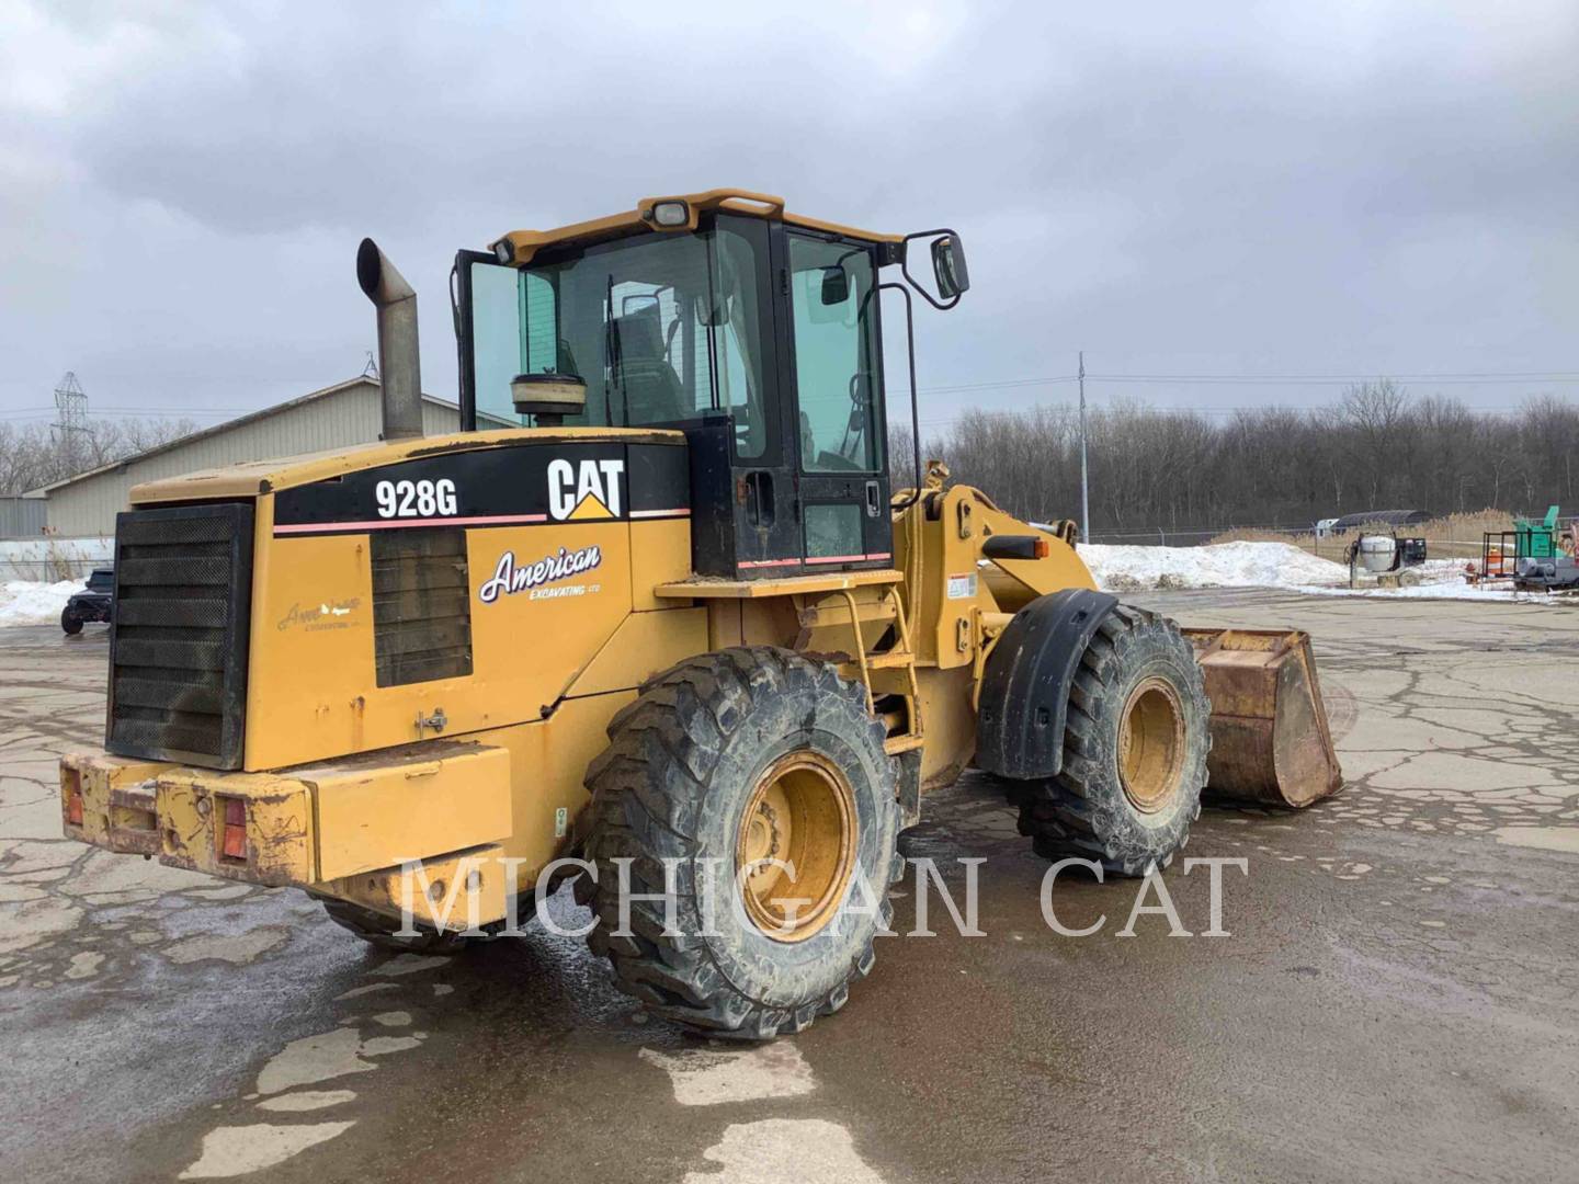
<path fill-rule="evenodd" d="M 887 567 L 894 527 L 875 248 L 777 229 L 802 570 Z"/>

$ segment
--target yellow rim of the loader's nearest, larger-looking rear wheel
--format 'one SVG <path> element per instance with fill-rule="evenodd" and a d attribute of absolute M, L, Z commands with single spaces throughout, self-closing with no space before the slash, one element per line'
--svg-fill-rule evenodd
<path fill-rule="evenodd" d="M 793 942 L 821 931 L 856 865 L 850 778 L 821 753 L 780 756 L 741 813 L 734 860 L 745 916 L 763 933 Z"/>

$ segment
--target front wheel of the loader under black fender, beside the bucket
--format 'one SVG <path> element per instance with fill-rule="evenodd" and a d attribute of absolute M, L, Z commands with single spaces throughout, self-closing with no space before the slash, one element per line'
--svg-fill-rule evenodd
<path fill-rule="evenodd" d="M 1200 816 L 1211 748 L 1205 677 L 1167 617 L 1116 606 L 1069 691 L 1063 770 L 1009 783 L 1020 834 L 1047 859 L 1143 876 L 1173 862 Z"/>

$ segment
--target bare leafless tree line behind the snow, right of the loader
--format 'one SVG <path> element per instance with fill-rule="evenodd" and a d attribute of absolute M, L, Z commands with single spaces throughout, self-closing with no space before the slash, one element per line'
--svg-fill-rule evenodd
<path fill-rule="evenodd" d="M 924 434 L 924 458 L 1034 521 L 1080 516 L 1080 412 L 1034 406 L 966 410 Z M 1213 418 L 1115 399 L 1086 410 L 1091 535 L 1311 529 L 1364 510 L 1431 515 L 1579 513 L 1579 406 L 1552 395 L 1508 412 L 1356 385 L 1334 404 L 1258 407 Z M 894 488 L 911 485 L 911 436 L 889 440 Z"/>

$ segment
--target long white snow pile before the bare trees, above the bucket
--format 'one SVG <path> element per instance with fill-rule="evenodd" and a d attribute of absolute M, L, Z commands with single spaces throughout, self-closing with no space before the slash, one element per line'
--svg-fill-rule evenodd
<path fill-rule="evenodd" d="M 1309 587 L 1348 583 L 1348 568 L 1290 543 L 1211 546 L 1104 546 L 1083 543 L 1080 557 L 1097 587 Z"/>

